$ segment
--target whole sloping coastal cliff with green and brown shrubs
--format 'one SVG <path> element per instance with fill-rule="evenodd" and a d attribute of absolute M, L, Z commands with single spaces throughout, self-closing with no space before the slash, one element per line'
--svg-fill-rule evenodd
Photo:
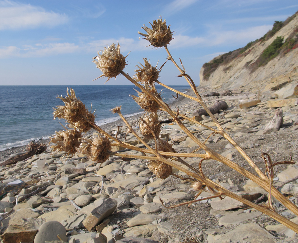
<path fill-rule="evenodd" d="M 215 57 L 200 71 L 200 86 L 216 89 L 293 88 L 298 80 L 298 12 L 245 47 Z"/>

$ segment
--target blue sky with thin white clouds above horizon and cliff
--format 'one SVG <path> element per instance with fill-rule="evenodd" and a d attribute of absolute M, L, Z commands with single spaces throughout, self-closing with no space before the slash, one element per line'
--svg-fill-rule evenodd
<path fill-rule="evenodd" d="M 262 37 L 297 9 L 297 0 L 0 0 L 0 85 L 103 85 L 106 77 L 92 81 L 102 74 L 92 58 L 117 41 L 124 56 L 130 52 L 124 69 L 130 76 L 143 58 L 159 68 L 165 49 L 146 47 L 138 34 L 159 16 L 175 33 L 171 55 L 198 85 L 205 62 Z M 179 74 L 167 62 L 159 81 L 187 85 Z M 130 84 L 123 76 L 105 83 Z"/>

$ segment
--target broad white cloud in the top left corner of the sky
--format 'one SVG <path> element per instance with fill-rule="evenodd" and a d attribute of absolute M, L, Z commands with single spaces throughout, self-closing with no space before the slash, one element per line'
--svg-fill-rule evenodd
<path fill-rule="evenodd" d="M 46 12 L 41 7 L 14 1 L 1 1 L 0 29 L 33 29 L 40 26 L 53 27 L 68 21 L 65 14 Z"/>

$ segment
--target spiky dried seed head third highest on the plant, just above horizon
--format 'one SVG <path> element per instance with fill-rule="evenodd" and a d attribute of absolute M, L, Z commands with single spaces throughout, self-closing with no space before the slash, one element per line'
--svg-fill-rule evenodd
<path fill-rule="evenodd" d="M 135 70 L 136 71 L 136 77 L 133 77 L 137 81 L 141 81 L 143 84 L 149 84 L 153 85 L 154 82 L 157 81 L 159 78 L 159 71 L 155 67 L 152 67 L 150 62 L 147 61 L 147 58 L 143 58 L 145 62 L 145 66 L 142 65 L 142 68 L 137 66 L 139 69 Z"/>

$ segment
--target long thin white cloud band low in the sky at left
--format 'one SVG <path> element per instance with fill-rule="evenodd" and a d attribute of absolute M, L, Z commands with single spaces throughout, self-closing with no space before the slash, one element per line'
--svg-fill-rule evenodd
<path fill-rule="evenodd" d="M 79 46 L 74 43 L 49 43 L 47 45 L 37 43 L 34 46 L 26 45 L 22 48 L 7 46 L 0 49 L 0 58 L 55 56 L 74 53 L 78 48 Z"/>

